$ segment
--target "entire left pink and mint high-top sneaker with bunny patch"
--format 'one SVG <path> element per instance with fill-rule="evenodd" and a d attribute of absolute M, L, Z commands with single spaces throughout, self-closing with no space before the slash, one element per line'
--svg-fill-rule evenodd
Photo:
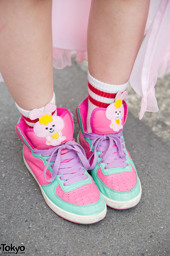
<path fill-rule="evenodd" d="M 90 224 L 106 215 L 106 204 L 86 168 L 89 163 L 83 148 L 73 139 L 70 111 L 46 105 L 30 113 L 39 118 L 34 128 L 27 128 L 21 116 L 16 132 L 23 141 L 23 160 L 38 183 L 48 206 L 72 222 Z"/>

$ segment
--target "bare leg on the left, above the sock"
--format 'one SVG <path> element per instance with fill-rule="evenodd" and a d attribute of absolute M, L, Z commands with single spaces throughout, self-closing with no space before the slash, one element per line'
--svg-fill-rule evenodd
<path fill-rule="evenodd" d="M 23 109 L 53 97 L 52 0 L 0 1 L 0 71 Z"/>

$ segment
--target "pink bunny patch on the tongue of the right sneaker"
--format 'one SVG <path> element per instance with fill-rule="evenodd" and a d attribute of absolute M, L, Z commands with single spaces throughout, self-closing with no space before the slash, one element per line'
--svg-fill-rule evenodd
<path fill-rule="evenodd" d="M 110 104 L 106 109 L 106 117 L 108 120 L 111 120 L 110 128 L 113 129 L 113 131 L 119 131 L 123 128 L 122 125 L 122 118 L 124 116 L 124 106 L 122 104 L 122 100 L 128 96 L 128 91 L 124 91 L 121 93 L 121 91 L 118 91 L 115 102 Z"/>

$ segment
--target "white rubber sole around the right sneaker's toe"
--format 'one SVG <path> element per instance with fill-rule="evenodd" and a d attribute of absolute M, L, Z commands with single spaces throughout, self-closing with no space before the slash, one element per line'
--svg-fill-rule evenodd
<path fill-rule="evenodd" d="M 80 141 L 79 141 L 79 133 L 78 133 L 78 136 L 77 136 L 77 143 L 80 144 Z M 80 144 L 81 145 L 81 144 Z M 140 184 L 140 180 L 139 180 L 139 184 Z M 101 192 L 100 192 L 101 193 Z M 101 193 L 102 194 L 102 193 Z M 123 210 L 123 209 L 128 209 L 128 208 L 132 208 L 134 207 L 136 204 L 138 204 L 138 202 L 140 201 L 140 198 L 141 198 L 141 195 L 142 195 L 142 188 L 141 188 L 141 184 L 140 184 L 140 193 L 137 197 L 131 199 L 131 200 L 127 200 L 127 201 L 116 201 L 116 200 L 112 200 L 106 196 L 103 196 L 104 198 L 104 201 L 106 203 L 106 205 L 108 205 L 109 207 L 111 208 L 114 208 L 114 209 L 119 209 L 119 210 Z"/>

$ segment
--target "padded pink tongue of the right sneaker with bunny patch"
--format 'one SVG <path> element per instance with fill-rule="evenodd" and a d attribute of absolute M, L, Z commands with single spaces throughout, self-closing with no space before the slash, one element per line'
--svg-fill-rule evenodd
<path fill-rule="evenodd" d="M 112 103 L 107 108 L 93 110 L 90 119 L 92 133 L 100 135 L 118 133 L 123 128 L 128 114 L 128 106 L 123 100 L 116 107 L 115 103 Z"/>

